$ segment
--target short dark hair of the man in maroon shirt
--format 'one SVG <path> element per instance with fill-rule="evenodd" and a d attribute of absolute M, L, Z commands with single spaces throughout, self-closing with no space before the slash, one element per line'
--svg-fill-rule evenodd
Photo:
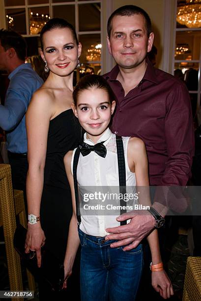
<path fill-rule="evenodd" d="M 107 25 L 107 30 L 108 30 L 108 36 L 110 38 L 111 30 L 112 30 L 112 20 L 115 16 L 133 16 L 133 15 L 142 15 L 144 16 L 145 20 L 145 26 L 146 26 L 146 31 L 147 31 L 147 36 L 152 32 L 151 29 L 151 20 L 149 18 L 149 15 L 145 12 L 144 9 L 142 9 L 139 6 L 136 5 L 124 5 L 119 8 L 117 8 L 110 18 L 108 19 L 108 25 Z"/>

